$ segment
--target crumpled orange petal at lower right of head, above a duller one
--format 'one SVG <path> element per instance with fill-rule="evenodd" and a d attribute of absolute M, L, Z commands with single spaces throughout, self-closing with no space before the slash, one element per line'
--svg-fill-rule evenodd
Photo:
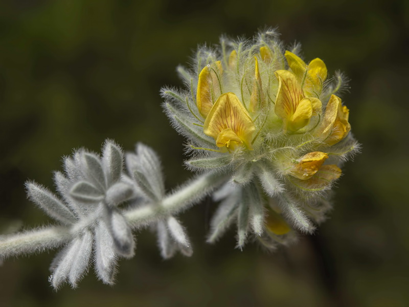
<path fill-rule="evenodd" d="M 311 178 L 319 171 L 324 161 L 328 159 L 328 154 L 321 151 L 309 152 L 299 159 L 299 163 L 291 170 L 291 175 L 301 180 Z"/>

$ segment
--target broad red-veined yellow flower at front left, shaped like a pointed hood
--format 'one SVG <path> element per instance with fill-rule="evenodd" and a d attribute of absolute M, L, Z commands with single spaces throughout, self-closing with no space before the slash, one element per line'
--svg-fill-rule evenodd
<path fill-rule="evenodd" d="M 222 94 L 210 110 L 203 131 L 222 150 L 234 150 L 244 144 L 253 150 L 252 136 L 256 126 L 234 93 Z"/>

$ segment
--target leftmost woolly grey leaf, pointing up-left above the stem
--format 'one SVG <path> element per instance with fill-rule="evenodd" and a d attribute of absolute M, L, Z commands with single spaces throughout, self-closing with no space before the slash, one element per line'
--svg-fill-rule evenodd
<path fill-rule="evenodd" d="M 48 189 L 36 183 L 26 183 L 28 197 L 44 212 L 63 224 L 75 223 L 77 218 L 65 204 Z"/>

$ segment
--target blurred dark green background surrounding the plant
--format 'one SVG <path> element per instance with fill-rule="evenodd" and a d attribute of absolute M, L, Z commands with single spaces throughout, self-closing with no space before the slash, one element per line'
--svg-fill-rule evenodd
<path fill-rule="evenodd" d="M 162 111 L 161 86 L 182 85 L 176 65 L 198 44 L 265 26 L 351 78 L 342 98 L 363 149 L 345 165 L 316 234 L 272 254 L 234 249 L 233 231 L 211 246 L 207 200 L 180 216 L 193 257 L 162 260 L 144 230 L 115 287 L 91 270 L 79 289 L 58 293 L 47 280 L 55 251 L 11 258 L 0 267 L 0 305 L 409 305 L 407 1 L 2 1 L 0 228 L 51 222 L 26 200 L 24 182 L 53 187 L 61 156 L 98 151 L 105 138 L 153 147 L 167 187 L 183 183 L 184 139 Z"/>

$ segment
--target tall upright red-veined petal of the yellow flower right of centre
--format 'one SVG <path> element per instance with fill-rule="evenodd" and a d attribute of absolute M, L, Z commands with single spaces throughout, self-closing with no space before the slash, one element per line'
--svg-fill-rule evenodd
<path fill-rule="evenodd" d="M 287 120 L 296 112 L 298 104 L 303 98 L 303 91 L 296 75 L 286 70 L 278 70 L 275 75 L 279 81 L 277 99 L 274 111 L 284 122 L 287 129 Z"/>

